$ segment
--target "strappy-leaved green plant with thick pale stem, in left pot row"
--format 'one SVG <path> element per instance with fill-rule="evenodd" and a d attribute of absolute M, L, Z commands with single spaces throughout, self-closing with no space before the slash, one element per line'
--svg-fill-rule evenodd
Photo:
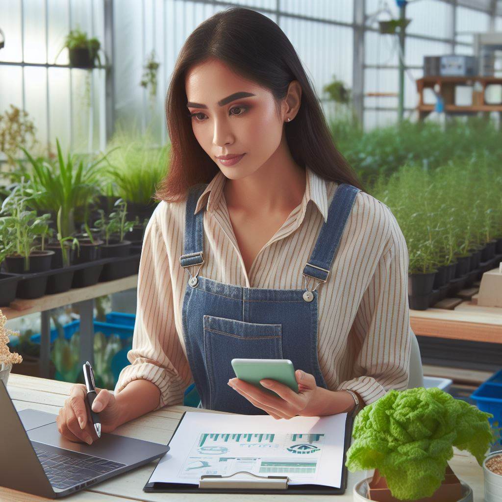
<path fill-rule="evenodd" d="M 23 151 L 33 168 L 28 179 L 35 205 L 55 215 L 61 210 L 61 233 L 68 237 L 75 231 L 75 209 L 84 208 L 98 193 L 97 175 L 103 158 L 84 164 L 82 158 L 68 153 L 65 160 L 57 139 L 56 144 L 57 163 L 34 159 L 28 151 Z"/>

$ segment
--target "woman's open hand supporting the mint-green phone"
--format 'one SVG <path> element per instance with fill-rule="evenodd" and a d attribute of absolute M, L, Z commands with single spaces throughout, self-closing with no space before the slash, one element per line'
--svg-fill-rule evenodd
<path fill-rule="evenodd" d="M 298 383 L 298 394 L 288 386 L 270 379 L 261 380 L 260 383 L 279 396 L 262 391 L 238 378 L 230 379 L 228 385 L 257 408 L 261 408 L 276 419 L 290 419 L 297 415 L 315 417 L 336 413 L 329 412 L 329 404 L 333 402 L 333 395 L 339 393 L 317 387 L 314 375 L 301 369 L 295 371 L 295 376 Z M 350 399 L 352 398 L 350 397 Z"/>

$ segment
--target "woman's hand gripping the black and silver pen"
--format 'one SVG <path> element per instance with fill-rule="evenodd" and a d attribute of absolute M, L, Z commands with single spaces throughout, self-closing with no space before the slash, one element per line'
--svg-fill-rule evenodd
<path fill-rule="evenodd" d="M 111 432 L 119 424 L 119 405 L 115 396 L 106 389 L 96 387 L 96 393 L 97 396 L 92 403 L 92 411 L 99 413 L 101 433 Z M 70 397 L 59 410 L 56 423 L 59 432 L 70 441 L 92 444 L 98 437 L 86 400 L 87 389 L 85 385 L 75 384 L 70 389 Z M 96 409 L 98 405 L 101 405 L 100 409 Z"/>

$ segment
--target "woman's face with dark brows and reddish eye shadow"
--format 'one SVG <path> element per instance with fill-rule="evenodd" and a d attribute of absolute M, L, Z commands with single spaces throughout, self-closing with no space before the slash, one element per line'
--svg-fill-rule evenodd
<path fill-rule="evenodd" d="M 188 71 L 185 89 L 195 138 L 227 178 L 252 174 L 278 150 L 288 111 L 286 101 L 278 116 L 270 91 L 232 73 L 217 59 Z M 246 95 L 225 99 L 235 93 Z M 231 154 L 245 155 L 233 166 L 217 159 Z"/>

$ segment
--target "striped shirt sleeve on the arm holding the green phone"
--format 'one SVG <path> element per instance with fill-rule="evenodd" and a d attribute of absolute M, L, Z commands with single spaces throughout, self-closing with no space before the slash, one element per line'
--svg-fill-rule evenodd
<path fill-rule="evenodd" d="M 408 306 L 408 248 L 393 220 L 386 247 L 365 290 L 351 329 L 356 347 L 354 378 L 336 390 L 349 389 L 371 404 L 389 390 L 408 386 L 411 325 Z"/>

